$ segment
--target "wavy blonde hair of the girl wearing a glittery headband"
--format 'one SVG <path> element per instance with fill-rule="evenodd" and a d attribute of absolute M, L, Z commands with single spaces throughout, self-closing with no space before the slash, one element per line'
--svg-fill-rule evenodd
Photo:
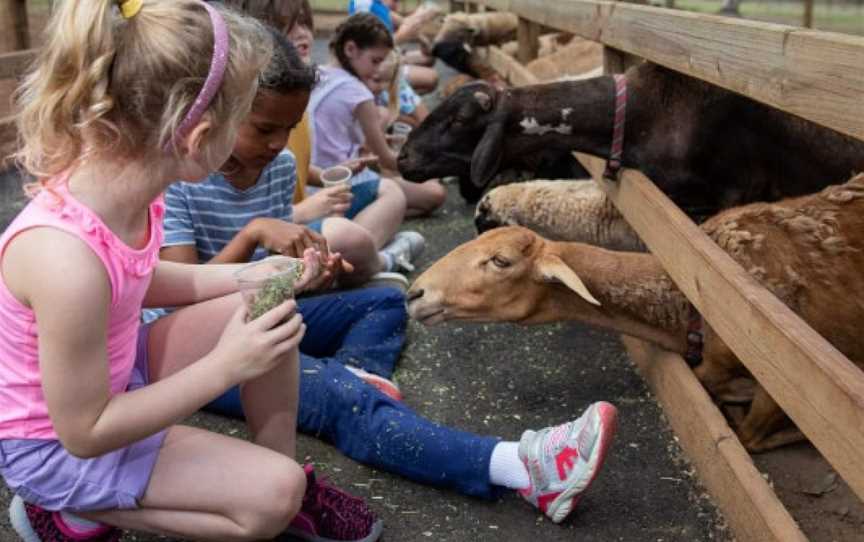
<path fill-rule="evenodd" d="M 63 1 L 16 91 L 16 158 L 37 177 L 56 175 L 85 154 L 163 152 L 204 84 L 214 38 L 202 2 L 144 0 L 130 19 L 122 18 L 119 3 Z M 230 45 L 225 77 L 207 110 L 214 140 L 248 113 L 271 54 L 259 23 L 219 9 Z"/>

